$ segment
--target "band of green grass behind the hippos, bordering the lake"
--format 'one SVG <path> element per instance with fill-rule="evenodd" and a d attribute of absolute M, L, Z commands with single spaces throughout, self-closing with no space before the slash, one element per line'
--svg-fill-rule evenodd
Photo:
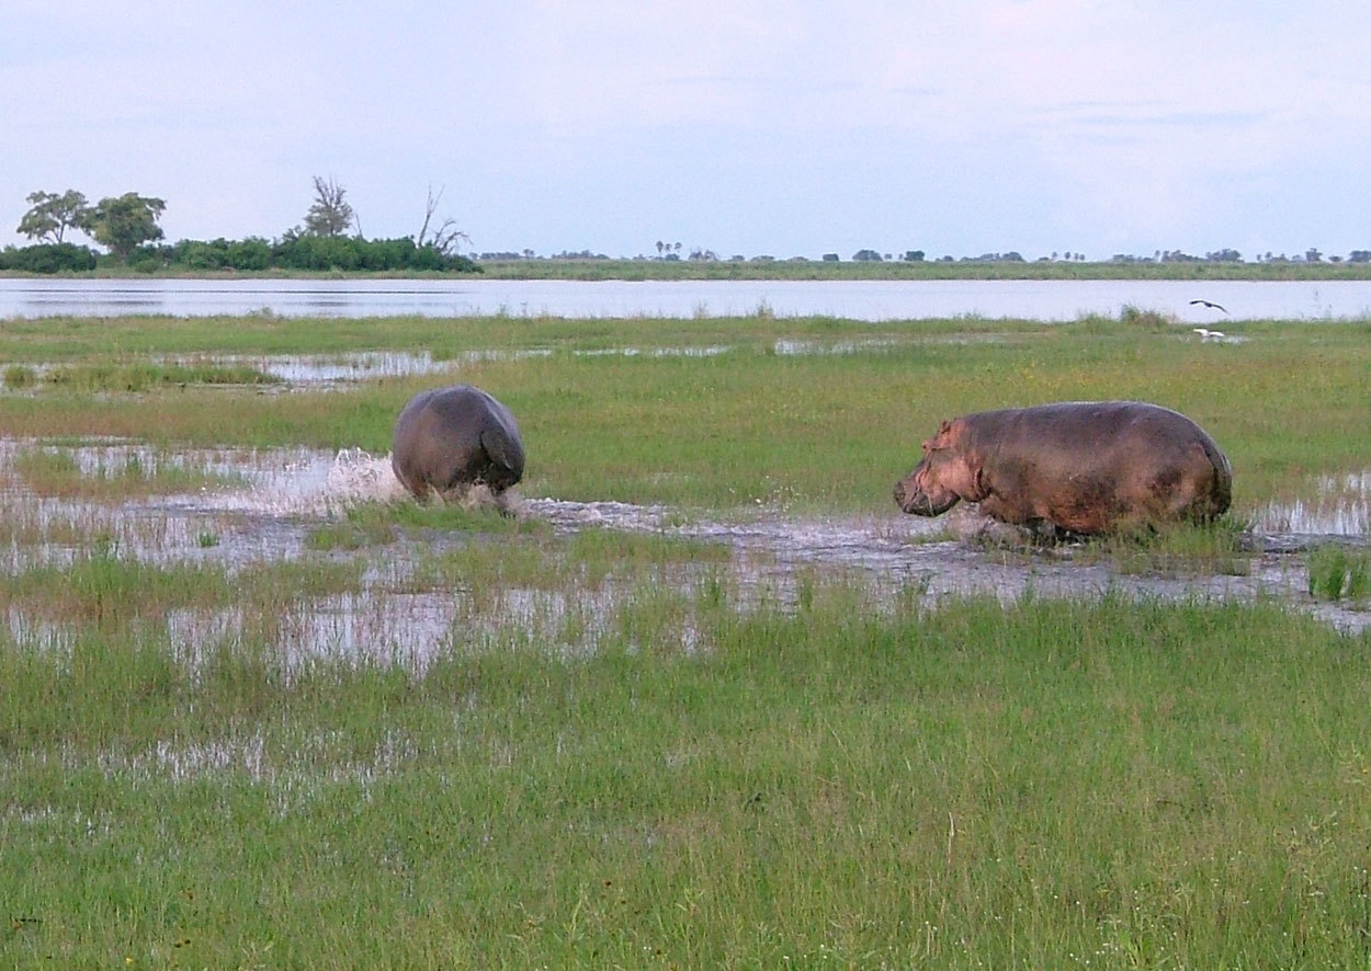
<path fill-rule="evenodd" d="M 1135 397 L 1196 418 L 1224 446 L 1237 511 L 1293 499 L 1371 455 L 1366 323 L 1242 325 L 1242 345 L 1201 345 L 1175 329 L 943 320 L 856 325 L 825 319 L 110 322 L 107 340 L 166 342 L 186 353 L 341 352 L 425 345 L 435 353 L 540 348 L 547 357 L 461 366 L 520 419 L 524 490 L 677 507 L 787 505 L 866 512 L 938 422 L 982 408 Z M 0 326 L 7 353 L 92 355 L 103 331 L 58 322 Z M 66 349 L 53 345 L 70 330 Z M 1235 333 L 1238 327 L 1234 327 Z M 967 338 L 972 340 L 967 340 Z M 788 356 L 776 341 L 821 346 L 893 341 L 850 353 Z M 30 346 L 30 341 L 33 345 Z M 107 345 L 108 346 L 108 345 Z M 728 346 L 710 357 L 579 356 L 617 346 Z M 27 348 L 27 351 L 25 349 Z M 1298 374 L 1298 381 L 1290 375 Z M 140 394 L 80 390 L 0 396 L 15 436 L 115 436 L 169 446 L 362 446 L 384 453 L 404 401 L 446 375 L 274 396 L 188 386 Z M 1337 403 L 1330 405 L 1328 403 Z M 1256 404 L 1260 403 L 1260 404 Z M 232 431 L 229 431 L 232 430 Z"/>

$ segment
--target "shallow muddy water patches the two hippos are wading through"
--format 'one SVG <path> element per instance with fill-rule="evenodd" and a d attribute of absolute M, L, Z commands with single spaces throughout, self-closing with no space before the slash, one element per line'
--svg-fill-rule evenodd
<path fill-rule="evenodd" d="M 12 460 L 33 444 L 0 440 L 0 516 L 10 525 L 0 544 L 0 571 L 64 563 L 89 555 L 103 537 L 119 555 L 151 562 L 217 562 L 230 568 L 269 560 L 326 556 L 306 548 L 306 535 L 324 518 L 359 501 L 403 497 L 387 456 L 359 449 L 322 453 L 308 449 L 188 451 L 174 462 L 208 471 L 232 471 L 241 485 L 193 494 L 155 496 L 114 505 L 84 500 L 38 499 L 18 479 Z M 118 468 L 136 457 L 144 468 L 167 462 L 144 446 L 108 442 L 70 449 L 84 470 Z M 794 603 L 808 575 L 842 575 L 864 585 L 873 604 L 893 603 L 910 590 L 925 603 L 950 596 L 993 594 L 1009 603 L 1026 594 L 1097 597 L 1121 593 L 1164 598 L 1238 598 L 1274 596 L 1357 633 L 1371 627 L 1371 612 L 1313 603 L 1307 594 L 1302 551 L 1328 541 L 1364 544 L 1371 472 L 1328 479 L 1319 494 L 1259 516 L 1253 552 L 1243 575 L 1132 575 L 1109 562 L 1087 562 L 1079 549 L 1031 549 L 983 535 L 973 511 L 936 520 L 890 515 L 805 519 L 783 509 L 738 518 L 683 518 L 679 509 L 625 503 L 576 503 L 524 497 L 521 515 L 548 522 L 558 533 L 611 529 L 659 533 L 727 544 L 733 557 L 729 583 L 744 600 Z M 37 537 L 37 540 L 34 540 Z M 455 542 L 455 541 L 454 541 Z M 409 548 L 406 548 L 409 545 Z M 396 659 L 415 667 L 444 646 L 478 644 L 524 630 L 563 653 L 594 651 L 598 633 L 618 598 L 631 592 L 613 582 L 595 589 L 487 592 L 414 590 L 410 574 L 421 553 L 414 544 L 372 551 L 363 589 L 291 607 L 276 619 L 284 655 Z M 365 555 L 365 553 L 363 553 Z M 351 556 L 351 555 L 350 555 Z M 701 572 L 683 566 L 672 582 L 683 589 Z M 166 618 L 175 649 L 195 659 L 217 644 L 244 638 L 254 619 L 241 611 L 177 611 Z M 16 641 L 63 646 L 69 634 L 11 609 L 0 618 Z M 692 646 L 688 620 L 680 629 Z"/>

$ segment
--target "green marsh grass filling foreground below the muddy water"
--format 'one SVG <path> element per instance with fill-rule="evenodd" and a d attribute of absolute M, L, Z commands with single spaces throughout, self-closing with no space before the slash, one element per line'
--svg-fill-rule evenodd
<path fill-rule="evenodd" d="M 642 588 L 594 655 L 510 630 L 422 675 L 0 633 L 0 953 L 1364 963 L 1364 638 L 1270 604 L 872 607 Z"/>

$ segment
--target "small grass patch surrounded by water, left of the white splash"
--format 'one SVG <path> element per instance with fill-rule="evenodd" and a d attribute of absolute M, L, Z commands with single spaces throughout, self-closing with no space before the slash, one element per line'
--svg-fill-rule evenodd
<path fill-rule="evenodd" d="M 37 496 L 97 501 L 243 485 L 243 478 L 233 472 L 196 468 L 180 456 L 143 456 L 137 451 L 84 468 L 70 449 L 29 448 L 15 455 L 12 470 Z"/>

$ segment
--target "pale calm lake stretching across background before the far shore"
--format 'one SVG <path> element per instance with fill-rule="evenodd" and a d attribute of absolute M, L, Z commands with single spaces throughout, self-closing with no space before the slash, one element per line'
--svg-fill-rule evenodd
<path fill-rule="evenodd" d="M 1227 312 L 1191 304 L 1208 300 Z M 1126 305 L 1205 326 L 1371 318 L 1371 281 L 0 279 L 0 319 L 175 316 L 980 316 L 1073 320 Z"/>

